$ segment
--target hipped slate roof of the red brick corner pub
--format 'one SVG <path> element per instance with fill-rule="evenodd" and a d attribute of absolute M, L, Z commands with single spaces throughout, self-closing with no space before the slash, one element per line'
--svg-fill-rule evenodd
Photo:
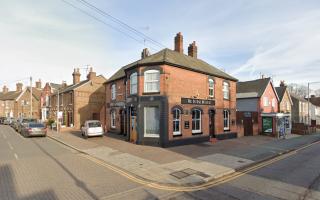
<path fill-rule="evenodd" d="M 187 56 L 185 54 L 165 48 L 144 59 L 140 59 L 122 67 L 114 75 L 112 75 L 107 82 L 111 82 L 125 77 L 125 70 L 128 70 L 136 66 L 148 66 L 152 64 L 168 64 L 171 66 L 181 67 L 188 70 L 221 77 L 232 81 L 238 81 L 233 76 L 230 76 L 229 74 L 217 69 L 216 67 L 204 62 L 203 60 L 193 58 L 191 56 Z"/>

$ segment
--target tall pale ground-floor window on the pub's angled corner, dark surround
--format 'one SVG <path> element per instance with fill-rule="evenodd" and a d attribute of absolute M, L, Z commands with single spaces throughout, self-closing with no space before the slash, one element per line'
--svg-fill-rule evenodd
<path fill-rule="evenodd" d="M 159 137 L 160 120 L 158 107 L 144 107 L 144 136 Z"/>

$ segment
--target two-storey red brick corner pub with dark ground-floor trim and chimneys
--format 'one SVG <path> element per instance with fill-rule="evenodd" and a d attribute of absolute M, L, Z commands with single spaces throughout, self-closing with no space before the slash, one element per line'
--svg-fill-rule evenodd
<path fill-rule="evenodd" d="M 236 137 L 237 79 L 198 59 L 195 42 L 183 54 L 181 33 L 174 41 L 105 83 L 108 134 L 162 147 Z"/>

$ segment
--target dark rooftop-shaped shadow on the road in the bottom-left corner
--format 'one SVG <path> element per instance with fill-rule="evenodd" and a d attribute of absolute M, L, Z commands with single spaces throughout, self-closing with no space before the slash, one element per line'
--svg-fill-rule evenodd
<path fill-rule="evenodd" d="M 17 194 L 18 189 L 14 182 L 14 173 L 9 165 L 0 166 L 0 199 L 1 200 L 32 200 L 32 199 L 48 199 L 57 200 L 53 190 L 43 190 L 30 194 L 25 197 L 19 197 Z"/>

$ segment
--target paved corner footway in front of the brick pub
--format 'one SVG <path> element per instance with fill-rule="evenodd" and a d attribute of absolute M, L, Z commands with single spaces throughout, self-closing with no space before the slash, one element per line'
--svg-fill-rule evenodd
<path fill-rule="evenodd" d="M 131 144 L 106 134 L 84 139 L 80 132 L 48 137 L 103 161 L 122 174 L 169 186 L 195 186 L 320 140 L 320 134 L 290 135 L 287 139 L 252 136 L 171 148 Z"/>

